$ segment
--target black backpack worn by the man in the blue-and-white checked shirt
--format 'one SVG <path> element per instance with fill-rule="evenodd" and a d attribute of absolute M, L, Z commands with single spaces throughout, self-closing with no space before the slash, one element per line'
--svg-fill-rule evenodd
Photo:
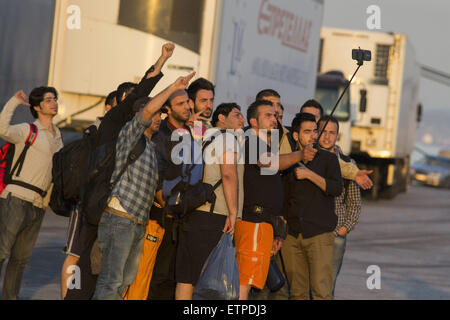
<path fill-rule="evenodd" d="M 127 157 L 116 179 L 111 182 L 111 177 L 116 165 L 117 139 L 100 145 L 90 154 L 85 183 L 81 190 L 80 210 L 88 224 L 97 226 L 107 206 L 109 195 L 119 182 L 129 165 L 133 164 L 147 145 L 144 135 L 136 143 Z"/>

